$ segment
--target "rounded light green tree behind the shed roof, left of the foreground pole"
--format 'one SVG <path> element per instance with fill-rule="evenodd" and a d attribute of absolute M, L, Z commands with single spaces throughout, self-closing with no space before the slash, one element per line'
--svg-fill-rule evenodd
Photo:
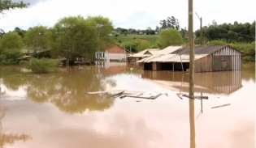
<path fill-rule="evenodd" d="M 183 43 L 184 42 L 180 32 L 173 28 L 163 29 L 158 37 L 158 46 L 161 49 L 164 49 L 170 45 L 180 45 Z"/>

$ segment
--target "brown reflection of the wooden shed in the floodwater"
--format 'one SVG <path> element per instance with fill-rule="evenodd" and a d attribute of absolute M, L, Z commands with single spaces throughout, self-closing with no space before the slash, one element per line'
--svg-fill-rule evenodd
<path fill-rule="evenodd" d="M 156 80 L 167 87 L 189 91 L 189 74 L 168 71 L 144 71 L 142 78 Z M 210 94 L 231 94 L 240 89 L 241 71 L 209 72 L 194 74 L 195 91 Z"/>

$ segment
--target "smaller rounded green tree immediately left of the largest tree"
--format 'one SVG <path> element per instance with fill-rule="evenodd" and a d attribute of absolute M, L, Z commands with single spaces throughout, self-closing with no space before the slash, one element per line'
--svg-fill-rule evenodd
<path fill-rule="evenodd" d="M 38 53 L 49 49 L 50 30 L 44 26 L 35 26 L 28 28 L 24 36 L 24 42 L 27 45 L 28 52 Z"/>

